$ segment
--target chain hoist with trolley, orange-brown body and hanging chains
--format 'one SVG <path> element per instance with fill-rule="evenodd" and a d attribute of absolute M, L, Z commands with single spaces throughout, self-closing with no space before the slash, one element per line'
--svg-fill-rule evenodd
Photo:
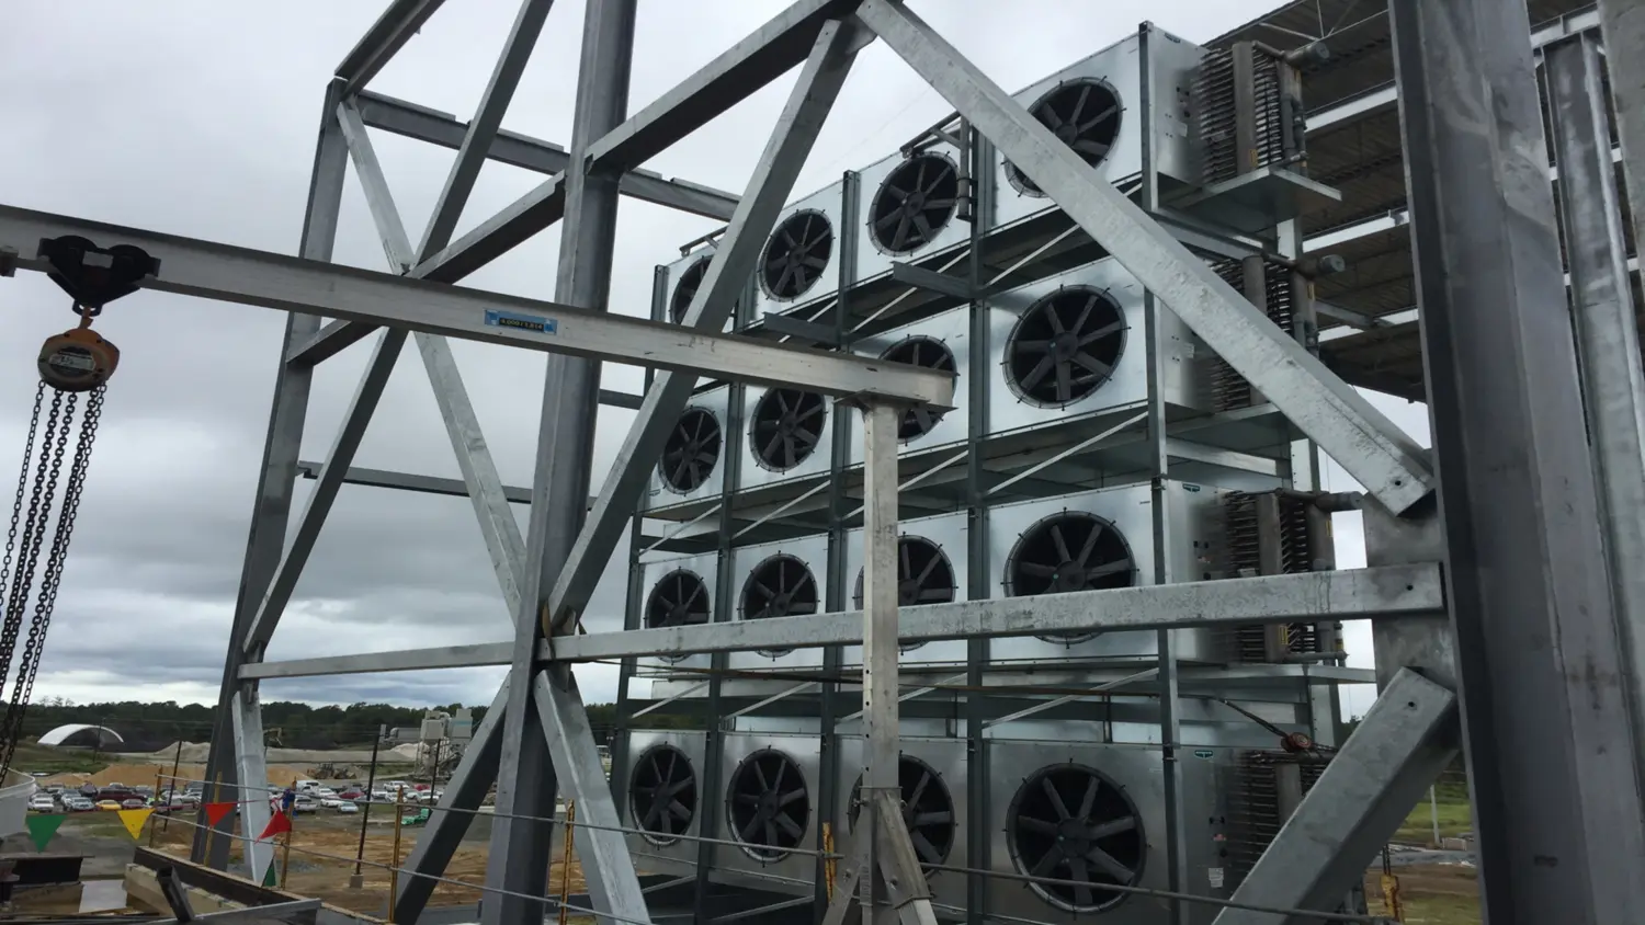
<path fill-rule="evenodd" d="M 141 279 L 160 268 L 160 261 L 141 248 L 118 245 L 100 250 L 79 237 L 43 240 L 39 260 L 48 265 L 48 276 L 74 301 L 74 314 L 81 320 L 72 329 L 48 337 L 39 348 L 39 384 L 23 445 L 23 468 L 12 499 L 5 554 L 0 557 L 0 669 L 7 672 L 0 675 L 0 685 L 7 679 L 12 682 L 5 716 L 0 718 L 0 780 L 12 767 L 23 713 L 35 690 L 46 628 L 58 603 L 63 564 L 86 488 L 86 470 L 92 460 L 92 440 L 102 417 L 104 389 L 120 363 L 120 350 L 92 330 L 92 320 L 102 314 L 104 306 L 137 291 Z M 64 460 L 67 476 L 63 472 Z"/>

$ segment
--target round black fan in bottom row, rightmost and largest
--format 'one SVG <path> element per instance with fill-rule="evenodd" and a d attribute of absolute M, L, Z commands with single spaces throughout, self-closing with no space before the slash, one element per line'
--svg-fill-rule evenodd
<path fill-rule="evenodd" d="M 1069 912 L 1101 912 L 1137 886 L 1148 840 L 1125 790 L 1082 764 L 1041 767 L 1012 797 L 1005 841 L 1017 869 L 1046 902 Z M 1077 884 L 1077 886 L 1076 886 Z"/>

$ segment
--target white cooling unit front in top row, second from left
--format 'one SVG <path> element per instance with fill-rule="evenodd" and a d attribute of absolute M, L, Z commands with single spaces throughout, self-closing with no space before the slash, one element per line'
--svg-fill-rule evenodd
<path fill-rule="evenodd" d="M 834 182 L 783 209 L 753 271 L 752 320 L 767 312 L 816 306 L 839 294 L 844 199 L 844 184 Z M 806 317 L 804 312 L 798 315 Z"/>

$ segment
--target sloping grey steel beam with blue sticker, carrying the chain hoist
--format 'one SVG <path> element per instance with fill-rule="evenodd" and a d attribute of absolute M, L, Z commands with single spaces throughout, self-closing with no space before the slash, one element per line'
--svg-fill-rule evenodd
<path fill-rule="evenodd" d="M 143 288 L 161 292 L 768 386 L 803 381 L 832 396 L 938 406 L 954 396 L 951 373 L 0 205 L 0 251 L 16 253 L 23 269 L 44 271 L 39 242 L 63 235 L 143 248 L 161 261 Z"/>

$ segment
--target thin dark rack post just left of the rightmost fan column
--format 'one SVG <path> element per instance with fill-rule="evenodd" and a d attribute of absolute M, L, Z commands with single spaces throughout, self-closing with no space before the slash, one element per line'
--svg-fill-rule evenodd
<path fill-rule="evenodd" d="M 994 145 L 980 131 L 966 127 L 971 159 L 971 260 L 966 276 L 972 292 L 982 291 L 984 242 L 994 223 Z M 987 468 L 984 468 L 982 444 L 989 434 L 989 376 L 977 370 L 990 368 L 989 360 L 989 301 L 971 302 L 971 381 L 962 383 L 967 393 L 969 432 L 966 442 L 966 595 L 969 600 L 985 600 L 992 593 L 989 580 L 989 496 Z M 989 639 L 974 636 L 966 646 L 966 815 L 975 823 L 966 826 L 966 858 L 972 874 L 966 874 L 966 923 L 982 925 L 989 909 L 989 871 L 992 863 L 994 830 L 982 825 L 989 817 L 989 739 L 982 723 L 987 720 L 987 702 L 975 692 L 982 687 L 989 667 Z"/>

